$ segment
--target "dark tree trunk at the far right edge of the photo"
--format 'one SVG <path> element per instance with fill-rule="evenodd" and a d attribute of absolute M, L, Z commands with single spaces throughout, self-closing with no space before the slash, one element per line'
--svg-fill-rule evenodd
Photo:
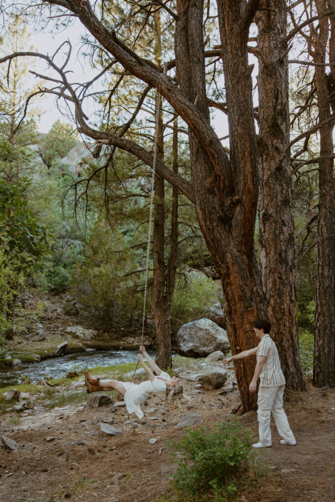
<path fill-rule="evenodd" d="M 320 15 L 335 7 L 333 0 L 315 1 Z M 329 60 L 335 58 L 335 17 L 330 17 L 331 37 L 329 42 Z M 314 61 L 325 63 L 328 40 L 328 18 L 320 19 L 318 36 L 315 36 Z M 319 121 L 330 117 L 330 97 L 327 80 L 335 84 L 335 70 L 325 73 L 324 66 L 315 67 L 315 84 L 318 99 Z M 333 98 L 333 96 L 332 96 Z M 315 290 L 315 343 L 313 384 L 317 387 L 335 386 L 335 191 L 333 177 L 333 122 L 320 129 L 319 156 L 319 206 L 317 227 L 317 271 Z"/>

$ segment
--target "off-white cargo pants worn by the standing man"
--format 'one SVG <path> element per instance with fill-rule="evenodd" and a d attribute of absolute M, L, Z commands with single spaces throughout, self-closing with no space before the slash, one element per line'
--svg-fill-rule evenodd
<path fill-rule="evenodd" d="M 260 387 L 258 389 L 259 440 L 264 446 L 271 446 L 271 412 L 279 435 L 287 442 L 295 441 L 286 413 L 283 410 L 284 385 L 280 387 Z"/>

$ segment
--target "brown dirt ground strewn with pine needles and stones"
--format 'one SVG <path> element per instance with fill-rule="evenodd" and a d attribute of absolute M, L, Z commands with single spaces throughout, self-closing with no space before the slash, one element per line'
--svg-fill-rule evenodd
<path fill-rule="evenodd" d="M 239 405 L 237 391 L 226 396 L 220 396 L 219 390 L 200 394 L 196 382 L 182 383 L 190 397 L 183 412 L 170 410 L 163 397 L 154 397 L 148 407 L 142 407 L 143 421 L 136 417 L 128 421 L 124 407 L 91 408 L 85 403 L 47 412 L 32 410 L 16 426 L 2 417 L 0 435 L 14 439 L 19 449 L 0 449 L 0 502 L 154 502 L 161 498 L 171 489 L 169 477 L 175 469 L 166 445 L 183 434 L 184 429 L 177 428 L 183 413 L 200 413 L 203 422 L 213 426 L 231 419 L 229 413 Z M 331 502 L 335 499 L 335 392 L 321 395 L 308 384 L 306 393 L 289 393 L 285 409 L 297 446 L 280 445 L 272 424 L 273 446 L 260 454 L 278 478 L 274 475 L 268 484 L 259 483 L 257 490 L 239 493 L 239 500 Z M 103 420 L 123 434 L 101 437 L 97 424 Z M 257 433 L 255 412 L 238 420 Z M 149 443 L 152 438 L 157 439 L 154 444 Z M 74 440 L 86 444 L 69 445 Z"/>

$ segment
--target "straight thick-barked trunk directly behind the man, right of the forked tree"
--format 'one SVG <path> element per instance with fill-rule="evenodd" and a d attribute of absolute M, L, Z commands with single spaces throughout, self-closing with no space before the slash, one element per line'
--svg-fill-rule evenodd
<path fill-rule="evenodd" d="M 255 17 L 259 73 L 259 220 L 262 284 L 268 302 L 271 336 L 278 344 L 286 384 L 305 387 L 300 364 L 294 292 L 290 115 L 284 0 L 266 0 Z M 283 159 L 284 157 L 284 159 Z"/>

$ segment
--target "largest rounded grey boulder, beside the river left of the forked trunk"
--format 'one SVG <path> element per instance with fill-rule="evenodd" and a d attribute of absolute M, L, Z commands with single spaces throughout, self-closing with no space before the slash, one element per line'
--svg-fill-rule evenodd
<path fill-rule="evenodd" d="M 181 326 L 177 345 L 181 353 L 190 357 L 206 356 L 216 350 L 227 352 L 231 348 L 227 332 L 205 318 Z"/>

